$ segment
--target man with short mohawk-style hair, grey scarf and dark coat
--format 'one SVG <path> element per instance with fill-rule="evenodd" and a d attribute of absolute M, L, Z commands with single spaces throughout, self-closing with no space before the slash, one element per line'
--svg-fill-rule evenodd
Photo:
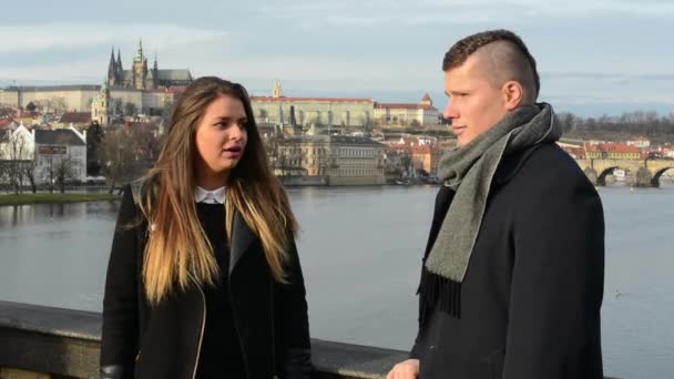
<path fill-rule="evenodd" d="M 458 148 L 440 161 L 417 340 L 388 378 L 602 378 L 602 205 L 535 103 L 534 59 L 494 30 L 442 70 Z"/>

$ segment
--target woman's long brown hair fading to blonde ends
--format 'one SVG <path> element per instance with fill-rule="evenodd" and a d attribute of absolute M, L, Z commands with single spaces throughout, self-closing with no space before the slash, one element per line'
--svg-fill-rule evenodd
<path fill-rule="evenodd" d="M 177 101 L 162 152 L 143 181 L 140 208 L 149 223 L 143 263 L 145 295 L 157 304 L 190 276 L 201 285 L 213 284 L 221 274 L 213 248 L 201 227 L 194 205 L 197 150 L 196 127 L 206 107 L 219 96 L 244 104 L 248 135 L 243 156 L 226 183 L 225 231 L 232 240 L 238 212 L 262 240 L 273 277 L 285 281 L 285 249 L 297 232 L 286 193 L 269 170 L 246 90 L 237 83 L 206 76 L 194 81 Z"/>

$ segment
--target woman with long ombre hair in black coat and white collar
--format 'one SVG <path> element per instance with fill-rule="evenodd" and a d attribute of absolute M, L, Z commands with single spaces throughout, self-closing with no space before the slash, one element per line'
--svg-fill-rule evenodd
<path fill-rule="evenodd" d="M 102 378 L 308 378 L 296 231 L 245 89 L 193 82 L 155 167 L 124 192 Z"/>

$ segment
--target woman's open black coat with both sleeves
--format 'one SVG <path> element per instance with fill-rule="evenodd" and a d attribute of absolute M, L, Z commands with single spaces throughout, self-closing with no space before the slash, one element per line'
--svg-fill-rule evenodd
<path fill-rule="evenodd" d="M 194 378 L 206 311 L 194 281 L 156 306 L 142 285 L 146 223 L 124 227 L 140 209 L 124 191 L 105 281 L 101 375 L 103 378 Z M 262 243 L 241 214 L 234 217 L 229 290 L 235 328 L 248 379 L 309 378 L 310 341 L 297 248 L 289 238 L 288 284 L 272 277 Z"/>

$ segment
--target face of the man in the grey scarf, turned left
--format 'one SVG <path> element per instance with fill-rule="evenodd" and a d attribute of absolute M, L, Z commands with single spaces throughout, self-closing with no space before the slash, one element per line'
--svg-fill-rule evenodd
<path fill-rule="evenodd" d="M 451 120 L 459 146 L 466 146 L 508 113 L 506 98 L 484 66 L 489 64 L 480 64 L 480 57 L 472 54 L 460 66 L 445 72 L 449 101 L 443 116 Z"/>

